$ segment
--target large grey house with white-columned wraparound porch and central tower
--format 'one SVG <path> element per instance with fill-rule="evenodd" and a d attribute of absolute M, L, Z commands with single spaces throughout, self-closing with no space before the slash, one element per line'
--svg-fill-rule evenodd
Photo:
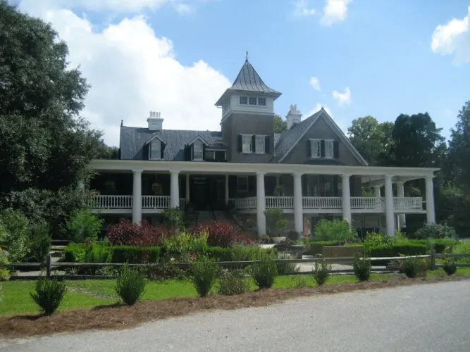
<path fill-rule="evenodd" d="M 111 220 L 152 223 L 165 208 L 191 205 L 213 214 L 231 208 L 259 234 L 266 233 L 266 208 L 281 208 L 299 236 L 321 218 L 390 236 L 406 227 L 407 214 L 435 222 L 438 169 L 369 166 L 323 108 L 302 120 L 290 106 L 287 130 L 275 133 L 279 96 L 247 60 L 216 101 L 220 131 L 166 130 L 154 111 L 147 127 L 121 123 L 119 160 L 92 161 L 99 173 L 92 188 L 100 195 L 89 206 Z M 405 197 L 404 183 L 421 178 L 425 199 Z M 364 186 L 373 187 L 373 196 L 362 194 Z"/>

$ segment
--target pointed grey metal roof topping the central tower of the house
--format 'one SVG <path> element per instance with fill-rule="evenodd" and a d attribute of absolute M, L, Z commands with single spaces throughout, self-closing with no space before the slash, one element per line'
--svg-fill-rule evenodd
<path fill-rule="evenodd" d="M 256 92 L 256 93 L 264 93 L 271 96 L 274 96 L 274 99 L 280 96 L 280 92 L 268 87 L 261 77 L 259 77 L 258 73 L 254 69 L 251 63 L 249 63 L 248 59 L 245 60 L 245 63 L 238 73 L 237 78 L 232 84 L 232 87 L 228 88 L 222 96 L 216 102 L 216 106 L 221 106 L 223 101 L 227 96 L 230 96 L 233 92 Z"/>

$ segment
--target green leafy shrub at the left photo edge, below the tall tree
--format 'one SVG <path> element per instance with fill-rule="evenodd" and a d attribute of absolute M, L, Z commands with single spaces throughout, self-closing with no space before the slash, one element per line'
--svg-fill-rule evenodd
<path fill-rule="evenodd" d="M 8 260 L 18 263 L 27 254 L 27 241 L 30 237 L 30 222 L 18 210 L 7 208 L 0 210 L 0 225 L 2 226 L 1 245 L 8 251 Z"/>

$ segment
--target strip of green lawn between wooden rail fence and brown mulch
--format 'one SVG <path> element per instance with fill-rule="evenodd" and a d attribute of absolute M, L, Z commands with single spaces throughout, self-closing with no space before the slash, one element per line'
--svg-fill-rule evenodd
<path fill-rule="evenodd" d="M 470 268 L 459 268 L 458 274 L 470 275 Z M 428 271 L 428 277 L 443 276 L 442 269 Z M 389 274 L 373 274 L 372 280 L 390 279 Z M 256 284 L 250 280 L 250 288 L 255 290 Z M 297 287 L 297 283 L 303 281 L 307 286 L 316 286 L 311 275 L 280 276 L 274 282 L 275 288 Z M 354 275 L 333 275 L 328 278 L 327 285 L 357 282 Z M 1 282 L 3 287 L 3 301 L 0 303 L 0 315 L 22 315 L 39 313 L 39 308 L 32 301 L 30 292 L 34 289 L 33 281 L 11 281 Z M 106 304 L 116 303 L 118 296 L 114 291 L 116 280 L 113 279 L 89 279 L 70 280 L 67 282 L 68 292 L 59 310 L 70 310 L 75 308 L 90 308 Z M 167 279 L 163 281 L 149 281 L 142 299 L 162 300 L 177 297 L 195 297 L 196 290 L 192 282 L 187 280 Z"/>

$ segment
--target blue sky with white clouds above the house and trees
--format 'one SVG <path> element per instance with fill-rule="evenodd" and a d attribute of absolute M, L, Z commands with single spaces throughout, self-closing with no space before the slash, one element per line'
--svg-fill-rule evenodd
<path fill-rule="evenodd" d="M 10 0 L 56 29 L 91 84 L 82 115 L 119 144 L 121 120 L 220 130 L 214 106 L 245 62 L 307 118 L 428 112 L 443 135 L 470 100 L 470 0 Z"/>

